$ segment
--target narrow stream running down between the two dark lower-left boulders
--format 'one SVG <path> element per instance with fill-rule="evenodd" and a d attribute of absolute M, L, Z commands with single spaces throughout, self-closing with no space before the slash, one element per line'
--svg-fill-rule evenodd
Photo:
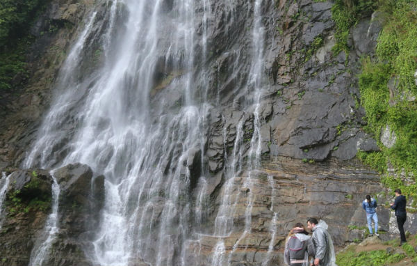
<path fill-rule="evenodd" d="M 56 235 L 59 232 L 58 227 L 58 199 L 60 188 L 56 178 L 54 177 L 54 173 L 51 172 L 51 177 L 54 180 L 52 183 L 52 212 L 49 214 L 47 219 L 44 234 L 47 236 L 46 240 L 42 242 L 38 247 L 31 252 L 31 260 L 29 261 L 29 266 L 38 266 L 43 265 L 44 261 L 48 258 L 49 251 L 54 244 L 54 240 L 56 239 Z"/>

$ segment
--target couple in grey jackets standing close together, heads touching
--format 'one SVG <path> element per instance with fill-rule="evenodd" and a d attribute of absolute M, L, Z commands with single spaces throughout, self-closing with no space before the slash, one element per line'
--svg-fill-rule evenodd
<path fill-rule="evenodd" d="M 312 232 L 310 236 L 303 224 L 295 224 L 286 239 L 284 263 L 291 266 L 337 266 L 332 237 L 327 227 L 323 220 L 307 219 L 307 228 Z"/>

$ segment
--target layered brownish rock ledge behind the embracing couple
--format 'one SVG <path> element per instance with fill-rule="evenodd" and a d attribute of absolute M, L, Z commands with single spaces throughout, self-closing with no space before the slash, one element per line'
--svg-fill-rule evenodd
<path fill-rule="evenodd" d="M 245 174 L 234 178 L 237 186 L 231 191 L 231 194 L 240 195 L 234 214 L 234 223 L 240 225 L 240 230 L 223 238 L 225 256 L 230 256 L 231 265 L 239 265 L 243 261 L 261 265 L 265 258 L 270 258 L 272 265 L 281 265 L 288 231 L 297 222 L 306 224 L 308 217 L 318 217 L 329 224 L 336 246 L 361 239 L 363 230 L 355 233 L 355 229 L 350 229 L 366 226 L 366 214 L 360 203 L 366 194 L 377 195 L 383 190 L 378 174 L 356 161 L 329 159 L 309 164 L 289 157 L 264 157 L 260 171 L 252 177 L 252 189 L 242 191 L 238 188 L 247 179 Z M 268 180 L 268 175 L 272 177 L 272 182 Z M 252 223 L 250 233 L 244 235 L 242 227 L 245 225 L 249 194 L 254 197 Z M 383 197 L 378 200 L 384 202 Z M 214 204 L 220 204 L 219 200 Z M 268 253 L 275 213 L 277 235 L 272 243 L 273 249 Z M 388 231 L 389 214 L 389 209 L 379 208 L 380 229 Z M 213 219 L 207 219 L 203 227 L 213 226 Z M 201 265 L 211 265 L 212 252 L 218 241 L 218 237 L 202 237 L 201 252 L 206 260 Z M 191 245 L 190 249 L 193 248 Z"/>

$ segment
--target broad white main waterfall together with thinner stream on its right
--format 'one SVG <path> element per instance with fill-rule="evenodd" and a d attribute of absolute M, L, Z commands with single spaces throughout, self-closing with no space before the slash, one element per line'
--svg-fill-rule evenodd
<path fill-rule="evenodd" d="M 221 102 L 220 93 L 213 93 L 212 88 L 219 86 L 208 75 L 213 71 L 208 61 L 213 54 L 214 3 L 102 2 L 106 10 L 91 13 L 60 70 L 58 93 L 24 165 L 49 168 L 81 162 L 105 175 L 100 227 L 91 240 L 92 251 L 86 251 L 94 265 L 142 261 L 155 266 L 188 265 L 186 250 L 199 245 L 202 235 L 202 228 L 193 222 L 201 222 L 206 215 L 205 177 L 210 174 L 204 159 L 207 120 L 213 106 Z M 238 4 L 227 1 L 221 6 L 230 14 L 230 23 L 236 19 Z M 254 1 L 254 6 L 248 3 L 249 10 L 254 10 L 247 13 L 253 17 L 252 42 L 246 51 L 250 74 L 238 73 L 244 70 L 241 65 L 247 56 L 241 56 L 243 52 L 236 47 L 224 52 L 233 55 L 231 79 L 243 79 L 237 84 L 247 88 L 243 94 L 252 100 L 245 107 L 252 111 L 238 118 L 233 151 L 224 155 L 225 182 L 213 228 L 213 237 L 218 238 L 213 265 L 227 263 L 223 240 L 234 230 L 236 204 L 243 197 L 237 187 L 249 190 L 240 239 L 250 233 L 252 223 L 252 178 L 261 154 L 262 4 L 261 0 Z M 105 19 L 98 21 L 97 17 Z M 229 31 L 226 26 L 225 34 Z M 85 75 L 79 65 L 90 49 L 97 48 L 92 42 L 95 38 L 104 52 L 103 63 Z M 154 95 L 164 93 L 162 100 L 153 100 Z M 211 93 L 215 97 L 209 99 Z M 249 150 L 243 139 L 247 115 L 254 121 Z M 238 178 L 244 169 L 248 169 L 246 176 Z M 192 196 L 195 187 L 199 192 Z M 33 252 L 31 261 L 41 265 L 47 252 Z"/>

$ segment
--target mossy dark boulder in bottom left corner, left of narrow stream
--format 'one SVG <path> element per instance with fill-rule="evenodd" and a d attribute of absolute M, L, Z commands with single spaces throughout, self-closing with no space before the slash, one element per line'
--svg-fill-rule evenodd
<path fill-rule="evenodd" d="M 28 265 L 51 210 L 52 178 L 47 171 L 10 174 L 0 219 L 0 265 Z"/>

